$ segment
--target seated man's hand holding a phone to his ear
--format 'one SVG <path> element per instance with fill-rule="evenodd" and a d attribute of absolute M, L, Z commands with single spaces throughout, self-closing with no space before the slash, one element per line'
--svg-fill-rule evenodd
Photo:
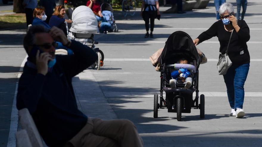
<path fill-rule="evenodd" d="M 41 53 L 39 56 L 40 51 L 38 50 L 36 53 L 36 68 L 37 73 L 46 75 L 48 72 L 47 63 L 49 60 L 52 60 L 52 56 L 49 53 Z"/>

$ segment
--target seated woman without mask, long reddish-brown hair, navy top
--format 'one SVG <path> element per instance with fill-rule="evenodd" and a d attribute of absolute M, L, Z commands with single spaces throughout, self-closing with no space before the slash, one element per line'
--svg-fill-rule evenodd
<path fill-rule="evenodd" d="M 72 23 L 72 20 L 64 19 L 65 14 L 66 14 L 65 6 L 62 6 L 62 5 L 56 6 L 54 13 L 49 20 L 49 26 L 50 27 L 56 26 L 56 27 L 62 29 L 63 32 L 67 35 L 67 29 L 66 29 L 65 21 L 67 23 Z"/>

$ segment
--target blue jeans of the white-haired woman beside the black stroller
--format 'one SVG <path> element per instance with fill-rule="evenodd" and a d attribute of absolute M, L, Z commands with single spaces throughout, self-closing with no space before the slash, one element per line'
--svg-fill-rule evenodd
<path fill-rule="evenodd" d="M 244 84 L 247 79 L 249 63 L 242 65 L 232 65 L 224 76 L 227 86 L 227 97 L 232 109 L 243 109 Z"/>

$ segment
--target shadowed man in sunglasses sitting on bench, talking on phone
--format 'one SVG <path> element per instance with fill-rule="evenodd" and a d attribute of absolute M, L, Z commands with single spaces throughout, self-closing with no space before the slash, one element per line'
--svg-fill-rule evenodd
<path fill-rule="evenodd" d="M 74 54 L 55 55 L 54 40 Z M 78 110 L 71 82 L 96 61 L 91 48 L 67 39 L 57 27 L 43 26 L 30 27 L 24 48 L 29 57 L 19 79 L 16 106 L 29 110 L 48 146 L 143 146 L 131 121 L 88 118 Z"/>

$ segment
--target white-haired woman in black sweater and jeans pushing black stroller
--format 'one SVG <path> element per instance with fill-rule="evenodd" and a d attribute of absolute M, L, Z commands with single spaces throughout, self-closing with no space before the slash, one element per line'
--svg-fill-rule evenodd
<path fill-rule="evenodd" d="M 231 107 L 230 116 L 242 118 L 245 116 L 243 110 L 244 83 L 247 79 L 250 63 L 250 56 L 247 50 L 247 41 L 250 39 L 249 27 L 244 20 L 237 21 L 234 7 L 230 3 L 222 4 L 219 8 L 219 14 L 220 20 L 216 21 L 207 31 L 201 33 L 193 42 L 195 45 L 198 45 L 216 36 L 220 43 L 219 52 L 221 54 L 226 53 L 229 44 L 227 52 L 232 61 L 232 66 L 223 77 Z M 229 42 L 231 33 L 232 37 Z"/>

